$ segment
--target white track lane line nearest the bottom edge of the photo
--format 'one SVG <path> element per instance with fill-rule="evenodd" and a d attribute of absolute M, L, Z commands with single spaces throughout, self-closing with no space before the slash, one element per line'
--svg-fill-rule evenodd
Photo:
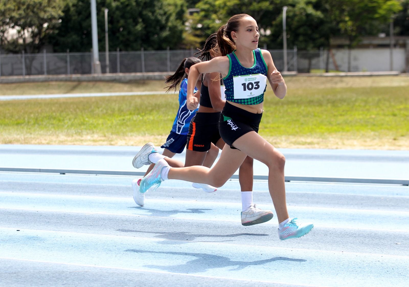
<path fill-rule="evenodd" d="M 88 264 L 76 264 L 76 263 L 66 263 L 66 262 L 56 262 L 56 261 L 43 261 L 43 260 L 31 260 L 31 259 L 20 259 L 20 258 L 11 258 L 11 257 L 0 257 L 4 260 L 17 260 L 17 261 L 28 261 L 28 262 L 39 262 L 39 263 L 52 263 L 52 264 L 61 264 L 61 265 L 72 265 L 72 266 L 83 266 L 83 267 L 95 267 L 95 268 L 105 268 L 105 269 L 119 269 L 119 270 L 129 270 L 129 271 L 138 271 L 138 272 L 148 272 L 148 273 L 159 273 L 159 274 L 170 274 L 170 275 L 181 275 L 181 276 L 190 276 L 198 278 L 215 278 L 215 279 L 224 279 L 224 280 L 238 280 L 238 281 L 252 281 L 260 283 L 272 283 L 272 284 L 281 284 L 281 285 L 291 285 L 291 286 L 306 286 L 306 287 L 327 287 L 326 285 L 306 285 L 306 284 L 289 284 L 279 281 L 264 281 L 264 280 L 249 280 L 249 279 L 238 279 L 238 278 L 229 278 L 229 277 L 220 277 L 220 276 L 206 276 L 206 275 L 196 275 L 196 274 L 186 274 L 186 273 L 175 273 L 168 271 L 154 271 L 146 269 L 136 269 L 136 268 L 124 268 L 124 267 L 111 267 L 103 265 L 88 265 Z"/>

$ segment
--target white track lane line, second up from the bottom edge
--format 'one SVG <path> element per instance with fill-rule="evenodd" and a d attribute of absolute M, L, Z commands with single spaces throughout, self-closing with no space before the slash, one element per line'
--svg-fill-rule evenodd
<path fill-rule="evenodd" d="M 1 227 L 1 229 L 7 229 L 10 231 L 15 231 L 15 228 L 10 228 L 10 227 Z M 42 230 L 42 229 L 20 229 L 20 232 L 24 231 L 29 231 L 29 232 L 43 232 L 43 233 L 63 233 L 63 234 L 68 234 L 68 235 L 77 235 L 77 236 L 91 236 L 91 237 L 105 237 L 105 238 L 133 238 L 137 240 L 151 240 L 151 241 L 178 241 L 178 242 L 186 242 L 185 240 L 175 240 L 175 239 L 160 239 L 160 238 L 149 238 L 149 237 L 138 237 L 138 236 L 126 236 L 126 235 L 109 235 L 109 234 L 97 234 L 97 233 L 80 233 L 80 232 L 72 232 L 72 231 L 53 231 L 53 230 Z M 192 241 L 190 243 L 195 243 L 195 241 Z M 255 247 L 255 248 L 263 248 L 264 246 L 260 245 L 249 245 L 249 244 L 237 244 L 237 243 L 225 243 L 225 242 L 206 242 L 206 241 L 200 241 L 196 242 L 200 244 L 205 244 L 205 245 L 226 245 L 226 246 L 238 246 L 238 247 Z M 293 247 L 273 247 L 273 246 L 268 246 L 267 248 L 271 249 L 280 249 L 283 251 L 288 251 L 288 250 L 297 250 L 297 251 L 312 251 L 312 252 L 321 252 L 321 253 L 338 253 L 338 254 L 351 254 L 351 255 L 370 255 L 370 256 L 383 256 L 383 257 L 390 257 L 390 258 L 400 258 L 400 259 L 406 259 L 409 258 L 409 256 L 401 256 L 401 255 L 389 255 L 389 254 L 380 254 L 380 253 L 361 253 L 361 252 L 348 252 L 348 251 L 333 251 L 333 250 L 319 250 L 319 249 L 305 249 L 305 248 L 293 248 Z"/>

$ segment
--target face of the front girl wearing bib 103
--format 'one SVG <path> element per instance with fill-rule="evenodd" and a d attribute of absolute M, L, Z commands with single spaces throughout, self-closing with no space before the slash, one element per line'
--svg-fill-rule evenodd
<path fill-rule="evenodd" d="M 252 17 L 245 17 L 240 20 L 240 26 L 237 32 L 232 33 L 233 38 L 236 39 L 236 46 L 243 46 L 252 50 L 258 47 L 258 26 L 256 20 Z"/>

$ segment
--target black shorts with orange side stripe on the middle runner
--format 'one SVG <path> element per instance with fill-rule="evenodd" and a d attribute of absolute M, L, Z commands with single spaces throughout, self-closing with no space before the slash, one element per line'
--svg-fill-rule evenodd
<path fill-rule="evenodd" d="M 220 112 L 197 112 L 190 122 L 186 148 L 205 152 L 211 143 L 216 144 L 220 139 L 219 118 Z"/>

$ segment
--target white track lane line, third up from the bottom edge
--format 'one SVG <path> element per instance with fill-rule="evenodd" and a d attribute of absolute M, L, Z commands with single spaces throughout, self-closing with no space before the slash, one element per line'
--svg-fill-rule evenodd
<path fill-rule="evenodd" d="M 61 211 L 61 210 L 48 210 L 48 209 L 21 209 L 21 208 L 8 208 L 8 207 L 0 207 L 0 210 L 4 209 L 11 209 L 11 210 L 27 210 L 27 211 L 46 211 L 46 212 L 58 212 L 58 213 L 80 213 L 84 215 L 118 215 L 118 216 L 134 216 L 134 217 L 151 217 L 151 218 L 163 218 L 163 219 L 172 219 L 172 220 L 190 220 L 190 221 L 218 221 L 218 222 L 236 222 L 240 223 L 240 220 L 222 220 L 222 219 L 204 219 L 204 218 L 189 218 L 189 217 L 169 217 L 169 216 L 152 216 L 152 215 L 140 215 L 140 214 L 123 214 L 123 213 L 108 213 L 108 212 L 89 212 L 89 211 Z M 272 222 L 264 222 L 263 224 L 275 225 L 277 226 L 278 223 Z M 345 226 L 330 226 L 330 225 L 319 225 L 314 224 L 314 228 L 333 228 L 333 229 L 353 229 L 353 230 L 369 230 L 369 231 L 385 231 L 385 232 L 402 232 L 402 233 L 409 233 L 409 230 L 393 230 L 393 229 L 377 229 L 377 228 L 360 228 L 360 227 L 345 227 Z"/>

